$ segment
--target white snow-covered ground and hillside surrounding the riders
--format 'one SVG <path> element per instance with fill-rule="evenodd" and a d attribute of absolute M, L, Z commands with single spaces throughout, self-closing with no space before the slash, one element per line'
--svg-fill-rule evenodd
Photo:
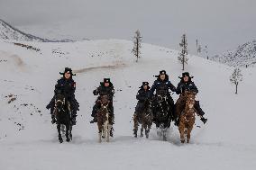
<path fill-rule="evenodd" d="M 171 125 L 168 141 L 153 128 L 150 139 L 133 138 L 135 95 L 142 81 L 152 83 L 161 69 L 178 84 L 178 51 L 142 45 L 138 63 L 127 40 L 69 43 L 20 42 L 35 51 L 0 40 L 0 169 L 255 169 L 256 69 L 242 69 L 238 93 L 229 82 L 233 67 L 189 56 L 187 71 L 199 88 L 197 99 L 208 122 L 197 118 L 191 144 L 181 145 Z M 70 143 L 59 144 L 50 123 L 49 103 L 64 67 L 77 73 L 78 123 Z M 115 87 L 114 139 L 97 143 L 96 124 L 89 121 L 104 77 Z M 172 95 L 176 101 L 178 96 Z"/>

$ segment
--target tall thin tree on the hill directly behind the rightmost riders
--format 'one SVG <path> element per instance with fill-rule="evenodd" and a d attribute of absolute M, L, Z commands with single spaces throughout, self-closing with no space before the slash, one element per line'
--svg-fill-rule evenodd
<path fill-rule="evenodd" d="M 182 64 L 182 70 L 184 70 L 185 64 L 187 64 L 187 37 L 186 34 L 182 35 L 182 40 L 179 43 L 179 47 L 181 48 L 181 51 L 178 55 L 178 61 Z"/>

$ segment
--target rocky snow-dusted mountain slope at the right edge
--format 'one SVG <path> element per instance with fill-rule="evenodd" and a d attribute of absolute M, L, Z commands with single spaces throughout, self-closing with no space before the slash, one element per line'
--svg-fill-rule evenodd
<path fill-rule="evenodd" d="M 237 49 L 211 58 L 232 67 L 251 67 L 256 64 L 256 40 L 246 42 Z"/>

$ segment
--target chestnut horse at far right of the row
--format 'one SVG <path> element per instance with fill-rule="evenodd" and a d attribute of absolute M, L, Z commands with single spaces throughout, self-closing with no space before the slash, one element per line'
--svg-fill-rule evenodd
<path fill-rule="evenodd" d="M 184 95 L 186 106 L 184 111 L 178 116 L 178 130 L 180 133 L 180 142 L 185 143 L 185 140 L 187 139 L 187 143 L 189 143 L 190 134 L 196 121 L 197 111 L 194 108 L 194 104 L 196 103 L 196 93 L 186 91 Z"/>

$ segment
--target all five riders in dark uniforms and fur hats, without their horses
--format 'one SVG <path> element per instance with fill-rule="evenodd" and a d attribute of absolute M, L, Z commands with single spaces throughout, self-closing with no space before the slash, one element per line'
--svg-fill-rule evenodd
<path fill-rule="evenodd" d="M 47 109 L 50 109 L 51 114 L 51 122 L 56 122 L 56 115 L 54 113 L 55 109 L 55 97 L 56 94 L 61 92 L 62 94 L 65 94 L 65 98 L 67 101 L 67 105 L 69 106 L 69 115 L 71 120 L 71 125 L 76 125 L 76 117 L 77 117 L 77 111 L 79 111 L 79 103 L 75 98 L 75 91 L 76 91 L 76 82 L 73 80 L 72 76 L 75 76 L 75 74 L 72 73 L 72 69 L 69 67 L 66 67 L 63 73 L 59 73 L 63 77 L 61 77 L 57 84 L 55 85 L 54 90 L 54 96 L 51 99 L 50 103 L 47 105 Z M 157 104 L 158 100 L 164 100 L 169 105 L 169 110 L 171 112 L 170 115 L 170 121 L 174 121 L 175 125 L 178 126 L 178 115 L 184 110 L 186 105 L 186 97 L 185 92 L 193 92 L 195 94 L 198 93 L 197 86 L 194 82 L 192 82 L 193 76 L 189 76 L 188 72 L 185 72 L 182 74 L 180 78 L 180 82 L 178 83 L 178 86 L 175 87 L 172 85 L 169 81 L 169 76 L 166 73 L 165 70 L 161 70 L 160 74 L 156 76 L 157 79 L 154 81 L 153 85 L 149 85 L 148 82 L 142 82 L 142 86 L 140 87 L 136 99 L 138 100 L 138 103 L 135 108 L 135 112 L 133 117 L 139 116 L 140 112 L 142 112 L 143 108 L 147 107 L 147 104 L 150 104 L 150 107 L 152 110 L 154 110 L 154 105 Z M 179 98 L 177 103 L 174 103 L 169 90 L 179 94 Z M 114 85 L 111 83 L 109 78 L 104 78 L 104 81 L 100 83 L 100 85 L 93 91 L 94 95 L 98 95 L 96 99 L 96 103 L 93 107 L 93 111 L 91 116 L 93 117 L 93 120 L 90 121 L 90 123 L 97 122 L 97 114 L 96 112 L 101 107 L 100 99 L 101 96 L 107 95 L 108 100 L 110 101 L 108 104 L 108 112 L 110 114 L 110 124 L 114 124 L 114 106 L 113 106 L 113 97 L 114 97 Z M 201 121 L 206 123 L 207 119 L 204 118 L 205 112 L 200 107 L 199 101 L 196 101 L 194 108 L 197 111 L 197 114 L 201 117 Z M 152 121 L 157 121 L 155 118 L 157 115 L 156 112 L 152 112 Z M 111 130 L 110 136 L 113 136 L 113 131 Z"/>

